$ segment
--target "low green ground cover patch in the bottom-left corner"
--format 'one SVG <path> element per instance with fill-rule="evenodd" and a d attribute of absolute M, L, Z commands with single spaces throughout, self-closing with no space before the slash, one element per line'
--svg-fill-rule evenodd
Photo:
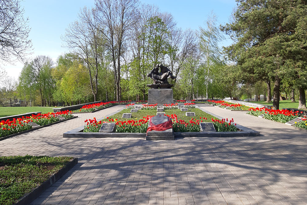
<path fill-rule="evenodd" d="M 72 157 L 0 157 L 0 204 L 10 205 L 63 168 Z"/>

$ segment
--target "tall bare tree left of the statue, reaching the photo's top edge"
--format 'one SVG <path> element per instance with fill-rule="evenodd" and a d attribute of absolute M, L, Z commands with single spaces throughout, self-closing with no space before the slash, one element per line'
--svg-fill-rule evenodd
<path fill-rule="evenodd" d="M 134 11 L 138 0 L 96 0 L 95 19 L 101 25 L 105 46 L 110 50 L 116 84 L 116 100 L 121 100 L 120 65 L 122 45 L 127 40 L 127 31 L 134 24 Z"/>

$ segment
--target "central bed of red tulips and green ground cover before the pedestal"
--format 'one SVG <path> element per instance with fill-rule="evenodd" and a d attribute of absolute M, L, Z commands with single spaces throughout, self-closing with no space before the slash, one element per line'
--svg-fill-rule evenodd
<path fill-rule="evenodd" d="M 151 107 L 155 107 L 153 105 Z M 176 105 L 175 105 L 176 106 Z M 150 106 L 148 106 L 150 107 Z M 147 107 L 147 108 L 148 108 Z M 129 109 L 124 109 L 121 112 L 97 121 L 94 119 L 85 120 L 83 132 L 99 132 L 103 123 L 113 122 L 116 123 L 115 132 L 130 132 L 130 133 L 145 133 L 148 128 L 148 120 L 150 117 L 156 115 L 155 109 L 139 110 L 133 112 L 131 119 L 122 118 L 123 113 L 130 112 Z M 165 109 L 165 115 L 169 116 L 173 121 L 174 132 L 200 132 L 200 122 L 213 122 L 217 132 L 235 132 L 237 131 L 236 124 L 233 119 L 215 119 L 214 116 L 201 111 L 198 108 L 189 108 L 189 112 L 195 112 L 195 117 L 185 116 L 185 112 L 179 109 Z"/>

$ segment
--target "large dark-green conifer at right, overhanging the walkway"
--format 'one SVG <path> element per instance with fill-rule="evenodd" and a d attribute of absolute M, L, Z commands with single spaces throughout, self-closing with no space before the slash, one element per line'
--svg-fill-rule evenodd
<path fill-rule="evenodd" d="M 263 69 L 254 73 L 274 81 L 274 109 L 279 108 L 282 78 L 293 76 L 293 70 L 299 81 L 305 78 L 306 4 L 303 0 L 238 0 L 233 22 L 222 27 L 235 40 L 226 49 L 231 60 L 243 70 L 253 69 L 253 59 L 263 62 Z M 304 81 L 301 89 L 305 87 Z"/>

